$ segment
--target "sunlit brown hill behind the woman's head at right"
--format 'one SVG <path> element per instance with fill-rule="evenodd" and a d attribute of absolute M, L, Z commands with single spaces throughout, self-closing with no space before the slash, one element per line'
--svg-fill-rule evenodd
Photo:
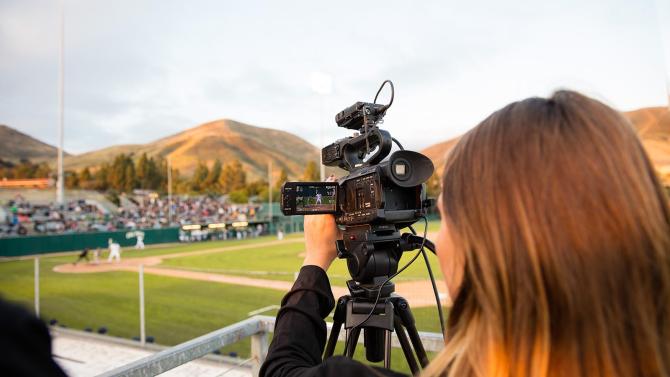
<path fill-rule="evenodd" d="M 662 175 L 670 175 L 670 110 L 667 107 L 647 107 L 623 113 L 638 131 L 642 143 Z M 447 152 L 459 138 L 431 145 L 421 151 L 442 172 Z M 669 177 L 670 178 L 670 177 Z"/>

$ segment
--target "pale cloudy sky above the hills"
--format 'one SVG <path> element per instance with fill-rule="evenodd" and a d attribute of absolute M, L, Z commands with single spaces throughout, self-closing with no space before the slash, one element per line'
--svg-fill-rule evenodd
<path fill-rule="evenodd" d="M 666 0 L 64 4 L 70 153 L 222 118 L 321 146 L 350 135 L 335 114 L 385 79 L 382 127 L 415 150 L 557 89 L 620 110 L 668 100 Z M 54 145 L 60 25 L 57 0 L 0 0 L 0 124 Z"/>

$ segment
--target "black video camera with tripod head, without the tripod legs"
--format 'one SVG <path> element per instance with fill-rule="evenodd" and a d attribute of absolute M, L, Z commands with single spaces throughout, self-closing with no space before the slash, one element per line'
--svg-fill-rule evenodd
<path fill-rule="evenodd" d="M 377 104 L 386 84 L 391 100 Z M 425 215 L 432 205 L 424 182 L 433 174 L 433 163 L 402 145 L 379 128 L 394 98 L 393 83 L 384 81 L 373 103 L 356 102 L 335 116 L 339 127 L 356 130 L 321 151 L 326 166 L 350 174 L 337 182 L 286 182 L 282 186 L 284 215 L 333 214 L 343 229 L 338 256 L 347 259 L 356 285 L 373 285 L 397 271 L 398 260 L 411 245 L 403 243 L 399 230 Z M 395 142 L 400 150 L 384 160 Z"/>

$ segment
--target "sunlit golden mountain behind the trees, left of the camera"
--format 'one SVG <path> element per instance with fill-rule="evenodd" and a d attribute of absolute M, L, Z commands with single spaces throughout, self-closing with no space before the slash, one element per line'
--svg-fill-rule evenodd
<path fill-rule="evenodd" d="M 317 148 L 296 135 L 222 119 L 148 144 L 117 145 L 70 156 L 65 159 L 65 169 L 96 167 L 111 162 L 120 153 L 169 157 L 172 167 L 184 176 L 190 176 L 200 161 L 211 166 L 217 158 L 224 164 L 237 159 L 250 179 L 266 177 L 269 160 L 273 175 L 278 176 L 284 168 L 289 177 L 298 178 L 308 161 L 319 159 Z"/>

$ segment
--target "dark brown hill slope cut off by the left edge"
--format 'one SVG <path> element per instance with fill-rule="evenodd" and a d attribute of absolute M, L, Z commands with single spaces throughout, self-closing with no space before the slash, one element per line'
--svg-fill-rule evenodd
<path fill-rule="evenodd" d="M 55 164 L 57 156 L 58 148 L 0 124 L 0 159 L 12 162 L 22 159 L 32 162 L 53 160 Z"/>

